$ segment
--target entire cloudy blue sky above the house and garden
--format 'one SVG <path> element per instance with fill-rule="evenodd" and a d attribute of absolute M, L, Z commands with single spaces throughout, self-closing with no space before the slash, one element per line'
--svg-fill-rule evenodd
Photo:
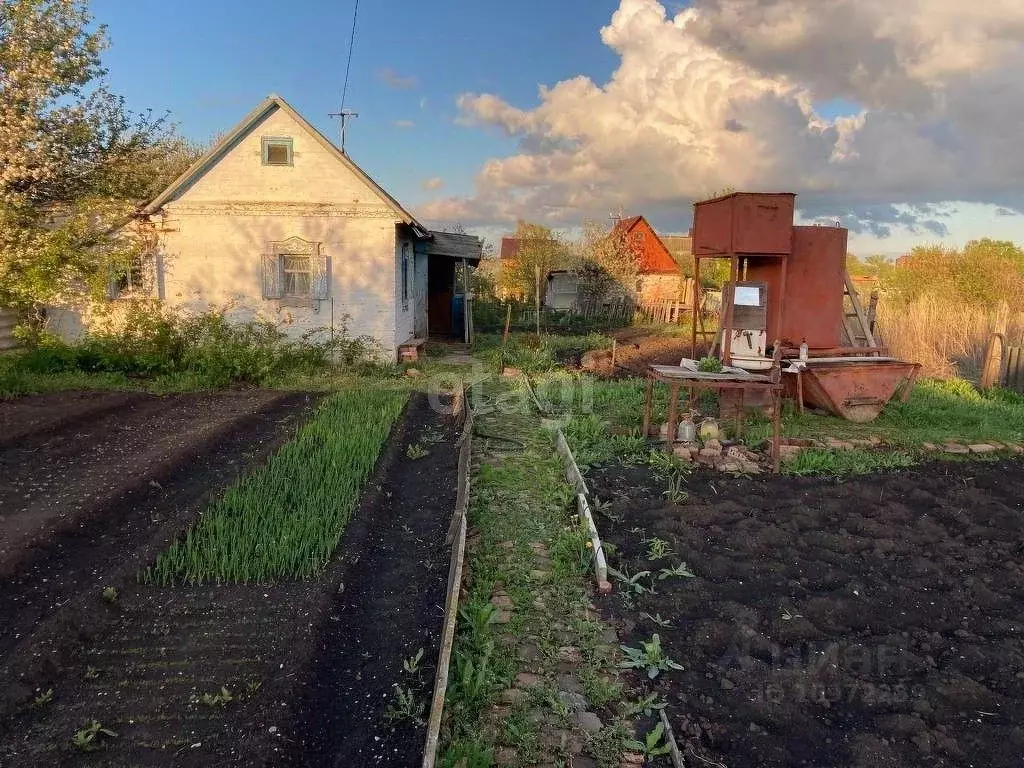
<path fill-rule="evenodd" d="M 206 138 L 274 90 L 337 133 L 351 2 L 194 4 L 198 34 L 178 8 L 154 39 L 158 4 L 94 0 L 130 103 Z M 798 193 L 858 253 L 1024 241 L 1020 0 L 441 5 L 361 5 L 348 100 L 350 154 L 426 220 L 681 231 L 734 187 Z"/>

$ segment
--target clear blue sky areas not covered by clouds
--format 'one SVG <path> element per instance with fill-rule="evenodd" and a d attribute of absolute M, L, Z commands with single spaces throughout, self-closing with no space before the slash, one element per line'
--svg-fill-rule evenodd
<path fill-rule="evenodd" d="M 457 121 L 457 98 L 493 93 L 534 110 L 542 84 L 583 75 L 603 86 L 623 66 L 600 37 L 621 1 L 639 7 L 646 0 L 362 0 L 347 99 L 359 117 L 349 130 L 349 154 L 413 210 L 442 197 L 472 201 L 483 164 L 521 145 L 499 124 Z M 340 106 L 353 2 L 91 0 L 90 7 L 109 28 L 110 84 L 131 109 L 169 110 L 184 135 L 208 141 L 276 92 L 338 140 L 338 122 L 328 114 Z M 686 7 L 664 5 L 670 13 Z M 856 100 L 842 97 L 815 106 L 826 120 L 859 111 Z M 442 185 L 425 188 L 430 179 Z M 642 189 L 645 180 L 634 182 Z M 977 204 L 944 210 L 949 243 L 983 234 L 1024 240 L 1019 215 L 996 216 L 993 206 Z M 671 203 L 652 218 L 663 231 L 685 229 L 688 206 Z M 493 239 L 507 226 L 479 231 Z M 924 229 L 891 231 L 882 239 L 851 232 L 851 250 L 895 255 L 937 240 Z"/>

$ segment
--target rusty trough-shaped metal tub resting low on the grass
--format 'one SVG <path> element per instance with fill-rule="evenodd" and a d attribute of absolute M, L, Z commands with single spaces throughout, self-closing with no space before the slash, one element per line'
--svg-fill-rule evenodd
<path fill-rule="evenodd" d="M 921 371 L 894 357 L 812 357 L 805 365 L 804 402 L 858 423 L 874 421 L 894 396 L 905 401 Z M 797 377 L 785 379 L 796 395 Z"/>

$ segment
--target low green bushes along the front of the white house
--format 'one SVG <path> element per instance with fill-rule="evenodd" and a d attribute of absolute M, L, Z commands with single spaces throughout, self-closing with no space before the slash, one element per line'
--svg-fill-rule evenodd
<path fill-rule="evenodd" d="M 333 335 L 317 329 L 294 340 L 272 323 L 231 323 L 222 310 L 185 316 L 137 305 L 118 330 L 90 333 L 76 344 L 36 336 L 9 373 L 187 377 L 208 387 L 266 385 L 284 373 L 360 365 L 372 351 L 370 340 L 351 339 L 344 328 Z"/>

